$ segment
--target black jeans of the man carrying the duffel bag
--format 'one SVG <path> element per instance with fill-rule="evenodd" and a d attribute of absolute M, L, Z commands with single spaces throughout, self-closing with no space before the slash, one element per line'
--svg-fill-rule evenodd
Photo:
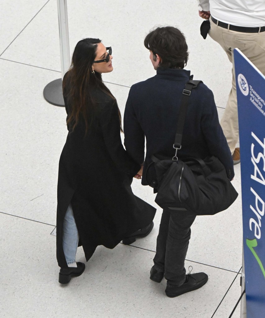
<path fill-rule="evenodd" d="M 154 264 L 157 271 L 165 272 L 169 285 L 180 286 L 185 281 L 184 262 L 195 218 L 189 211 L 163 210 Z"/>

